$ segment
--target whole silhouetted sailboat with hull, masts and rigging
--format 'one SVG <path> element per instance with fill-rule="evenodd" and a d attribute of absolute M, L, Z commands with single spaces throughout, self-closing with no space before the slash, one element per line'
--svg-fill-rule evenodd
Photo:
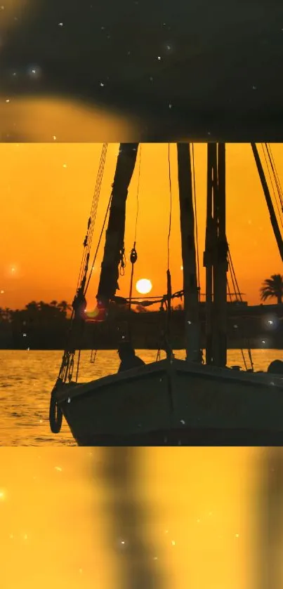
<path fill-rule="evenodd" d="M 251 148 L 283 261 L 282 235 L 261 158 L 256 144 L 251 144 Z M 105 146 L 103 149 L 106 149 Z M 137 164 L 137 154 L 138 143 L 124 143 L 119 147 L 107 207 L 109 219 L 94 320 L 107 321 L 110 303 L 121 302 L 117 289 L 119 267 L 124 260 L 126 198 Z M 177 144 L 177 155 L 186 359 L 176 359 L 170 346 L 171 300 L 174 293 L 168 269 L 167 293 L 163 301 L 166 322 L 162 344 L 166 358 L 88 383 L 78 383 L 80 351 L 77 342 L 86 321 L 86 290 L 93 267 L 90 265 L 88 249 L 88 237 L 93 231 L 90 217 L 81 274 L 73 302 L 70 337 L 62 357 L 58 380 L 51 393 L 51 430 L 60 432 L 64 416 L 79 446 L 281 445 L 283 375 L 256 373 L 252 362 L 251 369 L 246 371 L 239 370 L 237 366 L 227 366 L 227 273 L 230 251 L 225 225 L 225 143 L 207 145 L 205 362 L 200 344 L 190 144 Z M 96 199 L 100 190 L 103 161 L 105 152 L 100 159 Z M 105 216 L 103 230 L 106 220 Z M 132 271 L 135 261 L 134 244 Z M 130 293 L 125 302 L 131 306 L 131 300 Z M 73 377 L 76 353 L 77 374 Z"/>

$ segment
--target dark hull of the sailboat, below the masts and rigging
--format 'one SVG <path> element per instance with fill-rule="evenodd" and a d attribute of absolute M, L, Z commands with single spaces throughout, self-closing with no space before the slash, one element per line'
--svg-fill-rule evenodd
<path fill-rule="evenodd" d="M 57 399 L 79 446 L 283 445 L 283 378 L 267 373 L 164 360 Z"/>

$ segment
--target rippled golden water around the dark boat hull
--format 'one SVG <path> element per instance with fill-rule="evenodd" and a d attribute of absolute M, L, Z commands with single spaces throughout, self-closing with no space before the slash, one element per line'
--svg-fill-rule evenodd
<path fill-rule="evenodd" d="M 145 362 L 156 359 L 156 352 L 140 350 Z M 184 357 L 185 352 L 176 352 Z M 49 430 L 48 406 L 51 389 L 58 376 L 62 352 L 0 350 L 0 432 L 1 446 L 74 446 L 67 424 L 60 434 Z M 254 350 L 254 367 L 265 370 L 272 359 L 283 359 L 282 350 Z M 95 364 L 90 352 L 83 352 L 81 378 L 87 381 L 117 371 L 117 352 L 98 352 Z M 242 366 L 239 350 L 228 352 L 228 364 Z"/>

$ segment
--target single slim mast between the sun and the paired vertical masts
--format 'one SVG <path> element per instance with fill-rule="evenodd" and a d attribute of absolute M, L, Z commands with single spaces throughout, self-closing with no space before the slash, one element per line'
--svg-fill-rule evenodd
<path fill-rule="evenodd" d="M 180 199 L 180 231 L 183 258 L 183 289 L 185 306 L 185 337 L 187 360 L 201 362 L 199 292 L 195 249 L 195 214 L 192 198 L 192 166 L 190 143 L 177 143 L 178 186 Z"/>

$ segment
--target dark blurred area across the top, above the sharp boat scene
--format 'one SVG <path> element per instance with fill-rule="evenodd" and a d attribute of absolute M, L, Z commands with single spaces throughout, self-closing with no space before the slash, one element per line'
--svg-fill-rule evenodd
<path fill-rule="evenodd" d="M 133 140 L 282 140 L 280 0 L 37 0 L 28 10 L 4 32 L 1 93 L 134 115 Z"/>

